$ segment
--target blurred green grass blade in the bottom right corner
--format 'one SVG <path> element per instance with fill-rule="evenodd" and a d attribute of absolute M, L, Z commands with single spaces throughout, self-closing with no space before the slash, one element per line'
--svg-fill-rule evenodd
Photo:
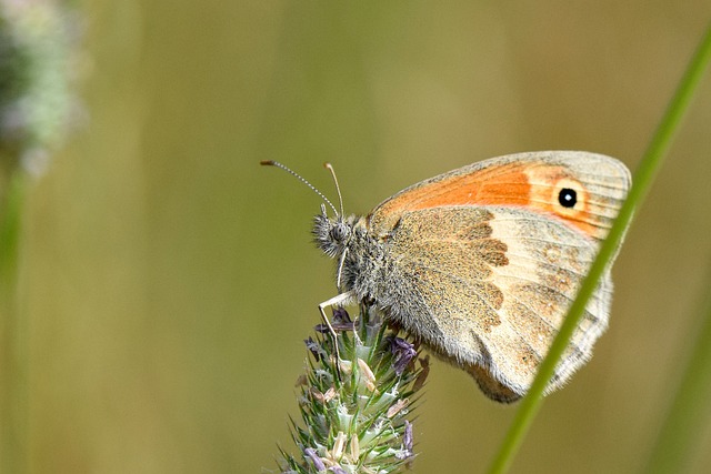
<path fill-rule="evenodd" d="M 693 448 L 709 413 L 711 396 L 711 293 L 707 295 L 700 327 L 688 336 L 695 340 L 674 400 L 661 427 L 645 473 L 687 472 Z"/>

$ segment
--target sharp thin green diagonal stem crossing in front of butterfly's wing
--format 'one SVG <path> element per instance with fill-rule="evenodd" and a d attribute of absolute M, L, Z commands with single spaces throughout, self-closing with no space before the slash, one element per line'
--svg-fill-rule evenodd
<path fill-rule="evenodd" d="M 588 276 L 584 279 L 575 301 L 573 301 L 573 304 L 570 306 L 570 311 L 568 312 L 568 316 L 565 317 L 560 332 L 555 336 L 548 355 L 541 363 L 535 380 L 531 385 L 531 390 L 522 400 L 515 417 L 513 418 L 513 422 L 500 446 L 499 453 L 489 467 L 489 473 L 505 473 L 511 466 L 513 457 L 523 442 L 523 437 L 528 433 L 533 418 L 540 410 L 543 390 L 551 380 L 555 365 L 568 346 L 568 343 L 582 317 L 588 300 L 592 296 L 592 293 L 598 285 L 598 281 L 608 266 L 608 262 L 610 262 L 610 259 L 614 255 L 615 250 L 622 242 L 624 232 L 632 220 L 634 209 L 641 205 L 642 201 L 647 196 L 654 177 L 662 164 L 662 159 L 671 145 L 674 133 L 681 125 L 682 118 L 689 109 L 693 93 L 697 90 L 703 72 L 710 61 L 711 26 L 707 28 L 697 52 L 691 59 L 689 68 L 681 79 L 679 88 L 677 89 L 661 123 L 652 137 L 652 141 L 644 154 L 644 158 L 634 173 L 632 189 L 630 190 L 627 201 L 620 209 L 620 215 L 612 225 L 610 234 L 602 243 L 600 253 L 593 262 Z"/>

